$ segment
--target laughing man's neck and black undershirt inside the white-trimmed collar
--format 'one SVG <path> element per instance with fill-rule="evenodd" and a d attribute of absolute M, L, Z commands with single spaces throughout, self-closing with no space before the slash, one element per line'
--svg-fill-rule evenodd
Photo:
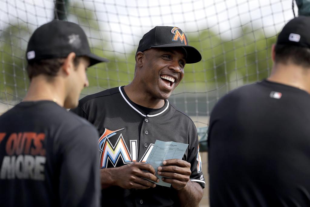
<path fill-rule="evenodd" d="M 129 99 L 140 106 L 160 109 L 165 105 L 165 100 L 154 98 L 150 93 L 142 92 L 141 88 L 135 87 L 134 83 L 126 85 L 124 90 Z"/>

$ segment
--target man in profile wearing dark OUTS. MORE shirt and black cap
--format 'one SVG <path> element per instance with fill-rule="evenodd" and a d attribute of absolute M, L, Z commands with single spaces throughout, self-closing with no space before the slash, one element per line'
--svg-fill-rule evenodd
<path fill-rule="evenodd" d="M 1 206 L 99 206 L 98 132 L 78 105 L 91 54 L 77 24 L 52 21 L 31 36 L 24 100 L 0 116 Z"/>

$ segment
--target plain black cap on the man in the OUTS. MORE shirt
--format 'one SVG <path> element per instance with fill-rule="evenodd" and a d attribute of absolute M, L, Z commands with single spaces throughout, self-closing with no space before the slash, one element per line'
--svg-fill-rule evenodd
<path fill-rule="evenodd" d="M 53 20 L 33 32 L 26 58 L 30 63 L 41 59 L 64 58 L 70 52 L 75 52 L 77 57 L 89 57 L 89 66 L 108 61 L 91 53 L 86 34 L 79 25 L 60 20 Z"/>

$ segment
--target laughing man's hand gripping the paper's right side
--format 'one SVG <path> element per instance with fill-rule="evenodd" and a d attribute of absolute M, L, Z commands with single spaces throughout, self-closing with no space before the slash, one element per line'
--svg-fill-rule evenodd
<path fill-rule="evenodd" d="M 191 164 L 185 160 L 171 159 L 162 162 L 165 166 L 157 168 L 157 174 L 163 177 L 164 182 L 171 183 L 176 190 L 184 188 L 189 181 L 191 175 Z"/>

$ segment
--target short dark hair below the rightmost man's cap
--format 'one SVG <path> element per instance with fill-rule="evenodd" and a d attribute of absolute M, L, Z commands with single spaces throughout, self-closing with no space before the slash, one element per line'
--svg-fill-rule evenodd
<path fill-rule="evenodd" d="M 276 45 L 275 62 L 283 64 L 293 63 L 304 68 L 310 68 L 310 48 L 294 45 Z"/>

